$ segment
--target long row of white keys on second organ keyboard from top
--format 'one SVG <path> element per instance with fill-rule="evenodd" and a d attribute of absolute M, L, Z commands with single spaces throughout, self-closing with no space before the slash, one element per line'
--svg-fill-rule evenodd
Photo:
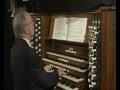
<path fill-rule="evenodd" d="M 46 59 L 46 58 L 43 58 L 42 60 L 46 61 L 46 62 L 49 62 L 49 63 L 60 65 L 60 66 L 65 67 L 65 68 L 69 68 L 71 70 L 78 71 L 78 72 L 81 72 L 81 73 L 84 73 L 84 72 L 87 71 L 87 69 L 86 70 L 81 70 L 80 68 L 76 68 L 76 67 L 73 67 L 73 66 L 70 66 L 70 65 L 67 65 L 67 64 L 62 64 L 62 63 L 59 63 L 59 62 L 55 62 L 55 61 L 52 61 L 52 60 Z"/>

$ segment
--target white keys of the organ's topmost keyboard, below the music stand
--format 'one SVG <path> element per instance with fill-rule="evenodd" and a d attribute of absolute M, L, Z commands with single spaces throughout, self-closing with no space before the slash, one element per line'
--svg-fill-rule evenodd
<path fill-rule="evenodd" d="M 81 59 L 78 59 L 78 58 L 69 57 L 69 56 L 65 56 L 65 55 L 60 55 L 60 54 L 53 53 L 53 52 L 47 52 L 47 54 L 49 54 L 49 55 L 54 55 L 54 56 L 58 56 L 58 57 L 61 57 L 61 58 L 70 59 L 70 60 L 77 61 L 77 62 L 88 63 L 87 61 L 84 61 L 84 60 L 81 60 Z"/>

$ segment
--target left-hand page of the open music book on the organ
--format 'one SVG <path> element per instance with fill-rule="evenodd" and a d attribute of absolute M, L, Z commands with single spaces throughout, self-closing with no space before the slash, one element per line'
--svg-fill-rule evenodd
<path fill-rule="evenodd" d="M 53 39 L 66 40 L 67 19 L 68 18 L 55 18 Z"/>

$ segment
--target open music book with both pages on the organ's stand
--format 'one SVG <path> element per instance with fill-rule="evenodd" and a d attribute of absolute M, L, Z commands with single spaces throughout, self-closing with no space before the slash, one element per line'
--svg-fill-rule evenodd
<path fill-rule="evenodd" d="M 84 42 L 87 18 L 59 17 L 55 18 L 53 39 Z"/>

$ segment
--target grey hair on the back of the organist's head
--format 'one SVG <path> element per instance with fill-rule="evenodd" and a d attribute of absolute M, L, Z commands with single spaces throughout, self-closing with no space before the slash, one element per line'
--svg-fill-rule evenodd
<path fill-rule="evenodd" d="M 15 16 L 13 18 L 13 32 L 15 38 L 22 38 L 26 25 L 26 18 L 24 13 L 26 12 L 25 7 L 20 7 L 17 9 Z"/>

